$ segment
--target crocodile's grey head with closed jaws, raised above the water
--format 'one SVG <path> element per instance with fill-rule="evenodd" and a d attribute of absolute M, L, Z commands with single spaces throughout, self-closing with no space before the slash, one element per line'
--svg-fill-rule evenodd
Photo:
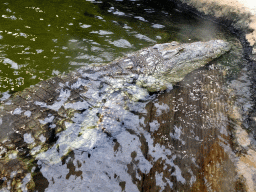
<path fill-rule="evenodd" d="M 231 45 L 223 40 L 156 44 L 147 48 L 150 55 L 144 60 L 144 73 L 140 74 L 137 85 L 149 92 L 163 91 L 230 49 Z"/>

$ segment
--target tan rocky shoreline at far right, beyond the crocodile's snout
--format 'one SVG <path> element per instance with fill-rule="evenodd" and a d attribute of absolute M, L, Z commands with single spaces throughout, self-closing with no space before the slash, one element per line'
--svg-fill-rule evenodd
<path fill-rule="evenodd" d="M 237 171 L 245 179 L 246 191 L 255 191 L 256 182 L 253 170 L 256 167 L 255 151 L 255 125 L 256 125 L 256 108 L 255 93 L 256 77 L 256 2 L 250 0 L 170 0 L 175 3 L 180 10 L 192 12 L 203 18 L 216 21 L 224 25 L 233 33 L 243 45 L 243 55 L 247 60 L 248 75 L 251 80 L 251 100 L 253 108 L 250 109 L 247 121 L 253 129 L 252 133 L 247 133 L 242 125 L 238 125 L 234 130 L 235 144 L 239 145 L 245 152 L 239 157 L 237 162 Z M 246 65 L 245 64 L 245 65 Z M 239 113 L 237 106 L 231 111 L 230 117 L 233 120 L 242 122 L 243 114 Z"/>

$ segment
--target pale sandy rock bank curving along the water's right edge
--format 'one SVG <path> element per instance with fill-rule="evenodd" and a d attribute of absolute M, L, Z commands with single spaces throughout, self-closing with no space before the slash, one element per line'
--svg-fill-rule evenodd
<path fill-rule="evenodd" d="M 170 1 L 177 4 L 181 10 L 193 12 L 224 25 L 238 37 L 243 45 L 245 71 L 242 73 L 247 76 L 245 78 L 247 80 L 244 83 L 234 83 L 231 87 L 244 101 L 231 99 L 233 107 L 229 111 L 229 118 L 235 125 L 232 129 L 232 140 L 240 180 L 243 180 L 244 190 L 256 191 L 256 2 L 250 0 Z M 244 79 L 245 76 L 240 78 Z M 250 86 L 250 90 L 246 90 L 249 97 L 242 91 L 245 84 Z"/>

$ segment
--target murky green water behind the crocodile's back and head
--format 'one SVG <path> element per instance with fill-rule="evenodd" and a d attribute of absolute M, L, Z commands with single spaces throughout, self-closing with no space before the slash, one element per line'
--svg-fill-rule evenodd
<path fill-rule="evenodd" d="M 212 24 L 141 3 L 1 1 L 0 95 L 156 43 L 218 36 L 220 29 Z"/>

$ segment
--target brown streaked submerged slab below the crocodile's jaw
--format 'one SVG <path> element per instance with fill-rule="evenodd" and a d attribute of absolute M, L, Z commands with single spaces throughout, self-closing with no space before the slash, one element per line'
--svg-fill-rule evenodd
<path fill-rule="evenodd" d="M 145 130 L 150 132 L 149 124 L 155 120 L 160 123 L 159 129 L 152 133 L 154 144 L 172 148 L 176 154 L 174 163 L 181 168 L 187 182 L 177 181 L 172 176 L 175 168 L 166 168 L 165 161 L 159 160 L 138 181 L 140 191 L 160 191 L 156 174 L 173 184 L 166 185 L 163 191 L 237 191 L 238 177 L 229 151 L 232 143 L 223 81 L 223 74 L 213 66 L 194 71 L 170 93 L 159 95 L 147 105 Z M 164 105 L 169 110 L 160 113 L 159 106 Z M 150 161 L 147 143 L 143 148 Z"/>

